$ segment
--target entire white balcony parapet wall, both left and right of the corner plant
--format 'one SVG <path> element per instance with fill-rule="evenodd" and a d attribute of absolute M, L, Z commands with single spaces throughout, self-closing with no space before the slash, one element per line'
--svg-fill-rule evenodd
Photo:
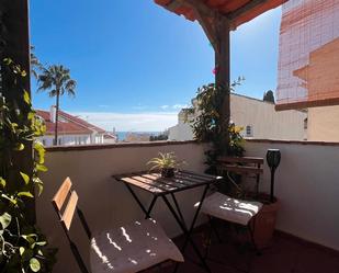
<path fill-rule="evenodd" d="M 278 229 L 300 238 L 339 250 L 339 146 L 286 141 L 258 141 L 246 144 L 247 156 L 264 157 L 269 148 L 282 152 L 276 171 L 275 195 L 281 202 Z M 188 162 L 187 169 L 204 170 L 204 147 L 194 143 L 112 145 L 104 147 L 52 148 L 47 152 L 48 172 L 43 175 L 45 191 L 37 201 L 38 224 L 48 235 L 52 246 L 59 248 L 58 263 L 54 272 L 79 272 L 57 221 L 50 200 L 66 177 L 70 177 L 93 232 L 116 227 L 143 214 L 125 186 L 111 175 L 140 171 L 158 151 L 174 151 Z M 261 190 L 269 190 L 269 170 L 264 166 Z M 191 219 L 193 204 L 200 191 L 179 195 L 187 218 Z M 143 202 L 149 195 L 139 192 Z M 156 207 L 157 218 L 169 236 L 177 236 L 172 216 L 160 202 Z M 81 241 L 83 254 L 88 254 L 86 235 L 78 225 L 71 230 Z"/>

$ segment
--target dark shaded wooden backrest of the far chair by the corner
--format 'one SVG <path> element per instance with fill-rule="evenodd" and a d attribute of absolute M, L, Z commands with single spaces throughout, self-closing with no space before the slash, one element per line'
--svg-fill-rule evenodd
<path fill-rule="evenodd" d="M 256 194 L 259 193 L 260 174 L 263 174 L 263 158 L 256 157 L 219 157 L 218 169 L 249 175 L 256 180 Z"/>

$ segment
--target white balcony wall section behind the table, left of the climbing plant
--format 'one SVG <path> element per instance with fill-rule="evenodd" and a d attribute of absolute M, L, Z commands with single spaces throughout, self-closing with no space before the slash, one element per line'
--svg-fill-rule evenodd
<path fill-rule="evenodd" d="M 87 216 L 91 231 L 95 232 L 144 217 L 129 192 L 122 183 L 113 180 L 112 174 L 146 170 L 148 160 L 156 157 L 159 151 L 174 151 L 178 159 L 188 162 L 187 169 L 204 171 L 203 147 L 193 143 L 113 145 L 110 147 L 83 150 L 76 147 L 54 148 L 46 153 L 48 172 L 42 178 L 45 182 L 45 189 L 37 202 L 37 218 L 39 226 L 48 235 L 50 244 L 59 248 L 58 262 L 54 272 L 79 272 L 50 204 L 50 200 L 66 177 L 71 178 L 74 187 L 79 194 L 79 205 Z M 150 202 L 149 194 L 138 193 L 145 204 Z M 191 190 L 184 194 L 178 194 L 178 202 L 189 220 L 192 217 L 193 205 L 199 201 L 200 193 L 201 190 Z M 159 220 L 169 236 L 174 237 L 180 234 L 174 219 L 162 201 L 155 207 L 154 217 Z M 86 235 L 77 218 L 75 224 L 71 229 L 72 235 L 80 242 L 82 253 L 87 257 L 89 246 L 86 243 Z"/>

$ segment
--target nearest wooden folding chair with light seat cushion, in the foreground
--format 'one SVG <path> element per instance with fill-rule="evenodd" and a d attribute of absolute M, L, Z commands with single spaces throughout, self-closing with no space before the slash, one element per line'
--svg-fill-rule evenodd
<path fill-rule="evenodd" d="M 71 185 L 70 179 L 67 178 L 52 203 L 82 273 L 134 273 L 169 260 L 183 262 L 179 249 L 154 219 L 143 219 L 92 235 L 82 212 L 78 207 L 78 194 L 76 191 L 71 191 Z M 67 198 L 68 203 L 66 202 Z M 61 212 L 65 202 L 67 205 Z M 69 234 L 75 212 L 77 212 L 90 240 L 91 270 L 88 270 Z"/>

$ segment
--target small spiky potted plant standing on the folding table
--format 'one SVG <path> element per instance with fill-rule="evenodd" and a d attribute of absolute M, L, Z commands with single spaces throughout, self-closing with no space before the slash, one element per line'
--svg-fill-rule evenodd
<path fill-rule="evenodd" d="M 147 164 L 152 164 L 149 170 L 160 171 L 161 177 L 163 178 L 174 177 L 174 170 L 180 166 L 180 163 L 177 161 L 174 152 L 159 152 L 159 157 L 152 158 L 147 162 Z"/>

